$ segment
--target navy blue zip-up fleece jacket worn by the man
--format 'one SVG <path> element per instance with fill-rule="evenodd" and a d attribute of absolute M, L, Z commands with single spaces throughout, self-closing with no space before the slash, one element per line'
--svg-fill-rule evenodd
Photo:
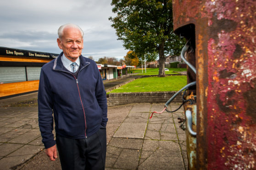
<path fill-rule="evenodd" d="M 75 76 L 61 62 L 63 52 L 41 69 L 38 111 L 39 128 L 45 148 L 55 145 L 56 134 L 82 139 L 106 127 L 106 91 L 96 63 L 80 56 L 80 67 Z"/>

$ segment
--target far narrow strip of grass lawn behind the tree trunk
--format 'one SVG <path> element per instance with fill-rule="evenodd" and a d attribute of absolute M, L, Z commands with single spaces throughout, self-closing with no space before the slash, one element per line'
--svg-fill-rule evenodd
<path fill-rule="evenodd" d="M 186 68 L 168 68 L 169 71 L 165 71 L 165 74 L 178 74 L 175 73 L 174 71 L 187 71 Z M 143 73 L 141 69 L 132 69 L 134 73 L 139 73 L 140 75 L 158 75 L 159 68 L 147 68 L 145 73 L 145 69 L 143 69 Z"/>

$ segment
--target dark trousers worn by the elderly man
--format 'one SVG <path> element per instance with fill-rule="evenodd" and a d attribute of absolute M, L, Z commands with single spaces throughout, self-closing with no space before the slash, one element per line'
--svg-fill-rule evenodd
<path fill-rule="evenodd" d="M 106 161 L 106 128 L 85 139 L 56 135 L 62 170 L 104 170 Z"/>

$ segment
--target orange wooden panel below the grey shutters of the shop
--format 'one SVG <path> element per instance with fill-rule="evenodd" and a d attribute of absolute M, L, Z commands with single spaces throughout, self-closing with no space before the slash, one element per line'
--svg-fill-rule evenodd
<path fill-rule="evenodd" d="M 36 91 L 38 87 L 39 80 L 0 84 L 0 97 Z"/>

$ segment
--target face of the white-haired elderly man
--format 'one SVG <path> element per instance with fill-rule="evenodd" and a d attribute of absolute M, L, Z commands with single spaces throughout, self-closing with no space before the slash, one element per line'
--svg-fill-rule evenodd
<path fill-rule="evenodd" d="M 59 48 L 71 61 L 76 61 L 82 53 L 83 37 L 77 28 L 66 27 L 61 38 L 57 39 Z"/>

